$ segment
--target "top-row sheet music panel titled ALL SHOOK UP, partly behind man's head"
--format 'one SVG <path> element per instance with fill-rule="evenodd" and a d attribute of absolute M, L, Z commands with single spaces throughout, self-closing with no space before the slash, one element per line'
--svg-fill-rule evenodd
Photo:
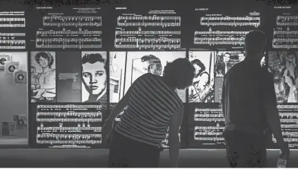
<path fill-rule="evenodd" d="M 232 8 L 219 5 L 192 6 L 188 35 L 191 47 L 199 49 L 243 49 L 245 35 L 264 27 L 264 8 L 259 3 Z"/>

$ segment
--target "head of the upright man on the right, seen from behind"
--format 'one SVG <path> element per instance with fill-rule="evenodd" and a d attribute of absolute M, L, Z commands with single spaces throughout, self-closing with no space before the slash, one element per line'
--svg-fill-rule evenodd
<path fill-rule="evenodd" d="M 265 54 L 266 47 L 266 36 L 264 32 L 259 30 L 248 32 L 244 40 L 244 47 L 246 50 L 246 58 L 260 62 Z"/>

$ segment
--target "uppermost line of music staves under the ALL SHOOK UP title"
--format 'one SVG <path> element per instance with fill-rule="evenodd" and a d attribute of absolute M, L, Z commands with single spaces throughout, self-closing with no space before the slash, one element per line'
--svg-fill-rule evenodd
<path fill-rule="evenodd" d="M 229 26 L 254 26 L 259 27 L 261 24 L 260 17 L 245 16 L 245 17 L 231 17 L 231 16 L 203 16 L 200 21 L 201 25 L 215 26 L 215 25 L 229 25 Z"/>

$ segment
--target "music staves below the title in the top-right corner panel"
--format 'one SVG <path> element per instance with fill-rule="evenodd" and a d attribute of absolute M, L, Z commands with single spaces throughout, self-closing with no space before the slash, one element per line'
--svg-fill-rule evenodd
<path fill-rule="evenodd" d="M 298 48 L 298 16 L 277 16 L 273 30 L 272 47 L 276 49 Z"/>

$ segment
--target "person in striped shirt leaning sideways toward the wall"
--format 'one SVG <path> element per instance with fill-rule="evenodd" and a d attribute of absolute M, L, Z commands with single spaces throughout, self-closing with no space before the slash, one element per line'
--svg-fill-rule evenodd
<path fill-rule="evenodd" d="M 168 126 L 170 167 L 178 166 L 183 102 L 175 90 L 189 87 L 194 77 L 190 61 L 178 58 L 166 65 L 163 76 L 148 73 L 135 80 L 103 126 L 106 138 L 117 115 L 128 106 L 112 133 L 109 167 L 157 168 Z"/>

